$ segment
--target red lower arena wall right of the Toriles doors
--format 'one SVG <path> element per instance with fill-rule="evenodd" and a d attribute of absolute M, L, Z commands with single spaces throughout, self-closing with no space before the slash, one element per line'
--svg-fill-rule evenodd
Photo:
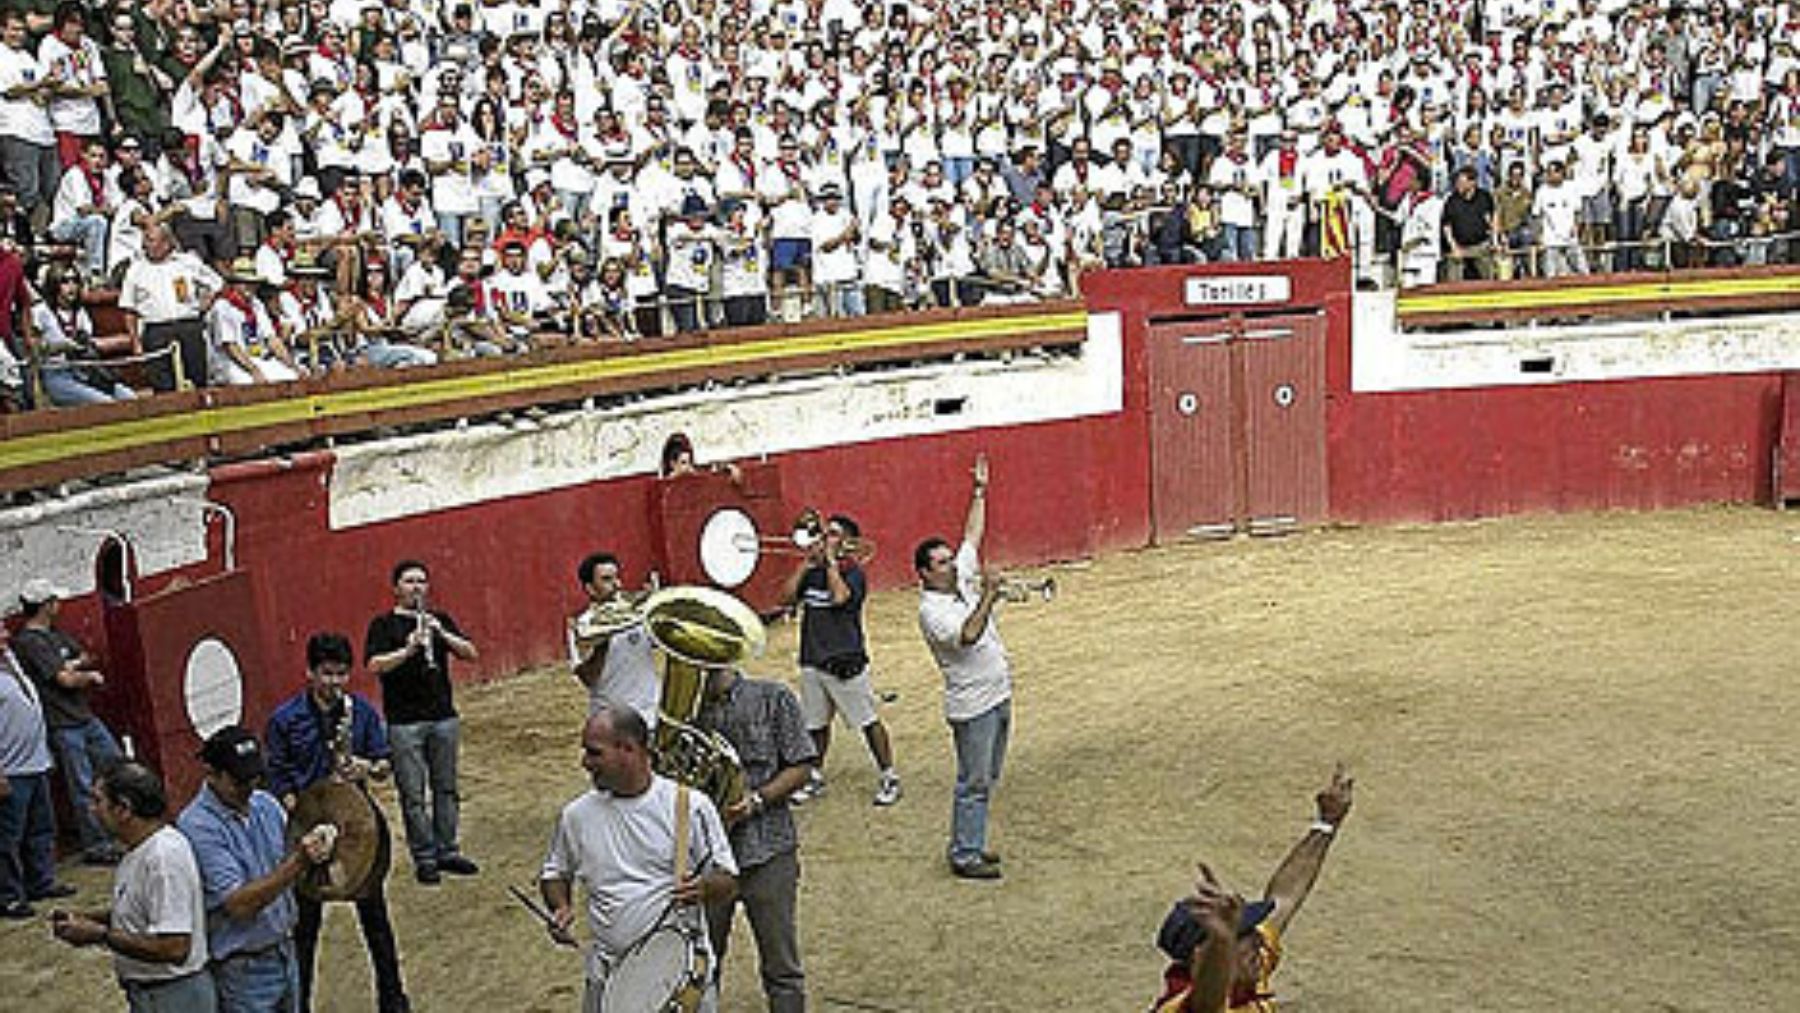
<path fill-rule="evenodd" d="M 1768 497 L 1778 374 L 1336 394 L 1332 516 L 1456 520 Z"/>

